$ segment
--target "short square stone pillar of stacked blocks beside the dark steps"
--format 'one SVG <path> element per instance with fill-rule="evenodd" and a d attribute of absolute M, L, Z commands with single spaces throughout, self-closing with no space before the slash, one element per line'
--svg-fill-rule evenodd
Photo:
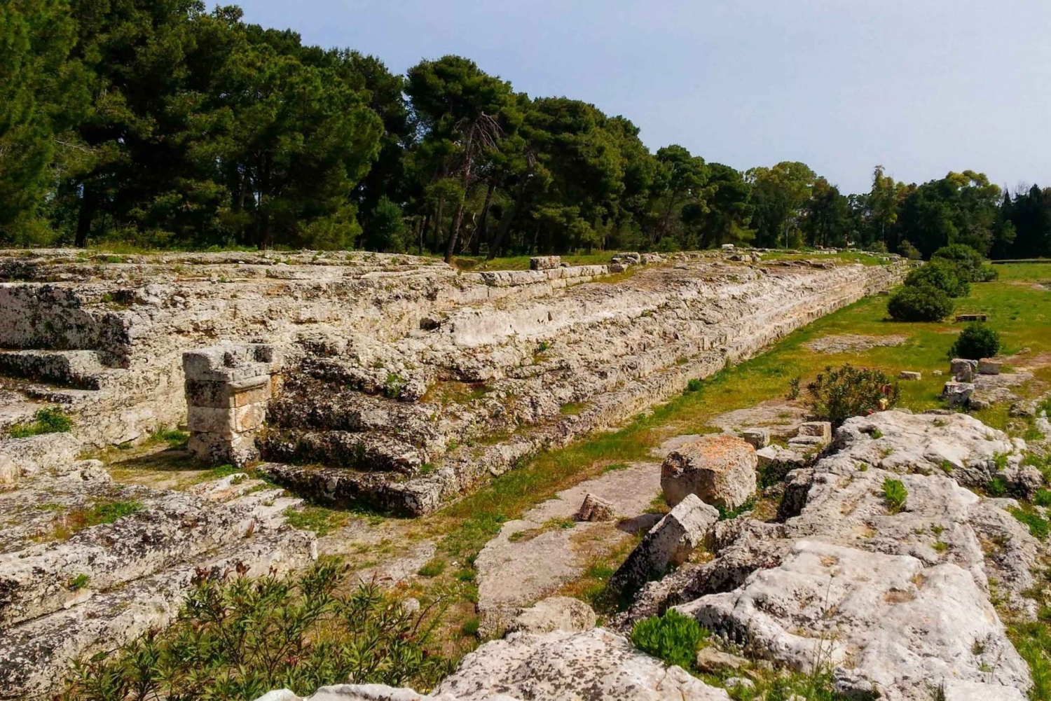
<path fill-rule="evenodd" d="M 273 346 L 221 344 L 183 353 L 189 449 L 214 465 L 259 459 L 255 433 L 280 390 L 281 357 Z"/>

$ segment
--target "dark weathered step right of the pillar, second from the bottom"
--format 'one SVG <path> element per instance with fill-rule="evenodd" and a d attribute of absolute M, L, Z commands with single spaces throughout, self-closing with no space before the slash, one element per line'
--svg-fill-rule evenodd
<path fill-rule="evenodd" d="M 365 472 L 413 475 L 429 458 L 426 450 L 385 433 L 267 431 L 256 437 L 256 444 L 266 460 Z"/>

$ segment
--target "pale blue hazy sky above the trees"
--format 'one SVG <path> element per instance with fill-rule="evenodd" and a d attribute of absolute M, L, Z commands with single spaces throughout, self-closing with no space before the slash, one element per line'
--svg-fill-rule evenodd
<path fill-rule="evenodd" d="M 235 2 L 236 0 L 230 0 Z M 240 0 L 249 22 L 396 73 L 457 54 L 623 115 L 653 150 L 1051 185 L 1051 0 Z"/>

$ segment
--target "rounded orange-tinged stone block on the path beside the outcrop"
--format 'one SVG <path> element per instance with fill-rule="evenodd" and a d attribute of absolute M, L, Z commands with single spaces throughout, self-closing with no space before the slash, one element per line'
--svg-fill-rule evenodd
<path fill-rule="evenodd" d="M 668 503 L 694 494 L 705 503 L 736 509 L 756 492 L 756 449 L 729 434 L 702 437 L 668 453 L 661 489 Z"/>

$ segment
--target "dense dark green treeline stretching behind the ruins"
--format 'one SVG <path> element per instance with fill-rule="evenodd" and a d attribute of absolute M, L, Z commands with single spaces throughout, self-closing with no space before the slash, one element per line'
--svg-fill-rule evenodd
<path fill-rule="evenodd" d="M 447 56 L 392 74 L 200 0 L 0 7 L 0 243 L 513 254 L 723 243 L 1051 254 L 1051 189 L 845 195 L 739 171 Z"/>

